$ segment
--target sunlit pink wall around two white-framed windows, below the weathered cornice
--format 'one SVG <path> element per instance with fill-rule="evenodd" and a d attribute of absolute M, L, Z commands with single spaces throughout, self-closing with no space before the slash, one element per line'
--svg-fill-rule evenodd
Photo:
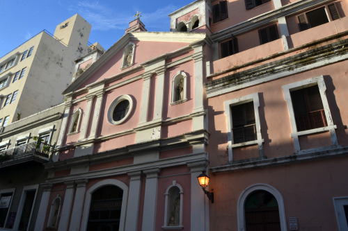
<path fill-rule="evenodd" d="M 281 78 L 271 83 L 262 83 L 260 85 L 248 87 L 246 89 L 230 92 L 221 96 L 208 99 L 209 106 L 209 153 L 214 153 L 211 157 L 211 166 L 226 164 L 227 155 L 227 121 L 224 112 L 224 101 L 236 99 L 241 96 L 259 92 L 260 97 L 260 126 L 261 134 L 264 139 L 264 155 L 267 157 L 279 157 L 293 155 L 293 139 L 290 137 L 292 128 L 290 125 L 290 116 L 287 109 L 287 103 L 284 99 L 283 85 L 294 83 L 308 78 L 324 76 L 326 83 L 326 97 L 329 101 L 329 107 L 333 117 L 334 124 L 338 126 L 336 135 L 338 142 L 342 146 L 348 145 L 348 132 L 344 126 L 348 123 L 348 112 L 345 110 L 346 101 L 345 83 L 348 80 L 347 70 L 348 61 L 340 62 L 334 65 L 313 69 L 301 74 L 294 74 L 291 78 Z M 304 138 L 303 138 L 304 137 Z M 324 145 L 331 145 L 329 132 L 316 134 L 313 136 L 303 136 L 300 139 L 301 148 L 315 148 Z M 307 137 L 307 138 L 306 138 Z M 255 157 L 257 150 L 254 147 L 233 148 L 236 158 L 244 159 L 246 157 Z"/>

